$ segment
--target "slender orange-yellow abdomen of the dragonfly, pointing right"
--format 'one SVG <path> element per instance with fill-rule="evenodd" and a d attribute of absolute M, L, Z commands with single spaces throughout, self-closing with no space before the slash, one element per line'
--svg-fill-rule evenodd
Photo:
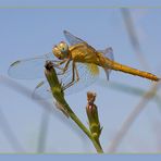
<path fill-rule="evenodd" d="M 121 72 L 124 72 L 124 73 L 137 75 L 137 76 L 148 78 L 148 79 L 154 81 L 154 82 L 160 81 L 160 78 L 158 76 L 156 76 L 151 73 L 148 73 L 148 72 L 145 72 L 145 71 L 139 71 L 139 70 L 126 66 L 126 65 L 122 65 L 122 64 L 116 63 L 116 62 L 112 63 L 111 69 L 114 70 L 114 71 L 121 71 Z"/>

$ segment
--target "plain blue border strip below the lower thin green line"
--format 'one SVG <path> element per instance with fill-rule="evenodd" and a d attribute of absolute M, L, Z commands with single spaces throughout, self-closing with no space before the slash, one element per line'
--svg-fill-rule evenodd
<path fill-rule="evenodd" d="M 161 158 L 161 156 L 136 156 L 136 154 L 101 154 L 101 156 L 97 156 L 97 154 L 63 154 L 63 156 L 51 156 L 51 154 L 40 154 L 40 156 L 1 156 L 1 159 L 3 160 L 24 160 L 24 161 L 27 161 L 27 160 L 70 160 L 70 161 L 74 161 L 74 160 L 85 160 L 85 159 L 90 159 L 92 161 L 97 161 L 97 160 L 101 160 L 101 161 L 106 161 L 107 159 L 108 160 L 112 160 L 112 161 L 119 161 L 119 160 L 146 160 L 146 161 L 151 161 L 151 160 L 154 160 L 154 161 L 159 161 Z"/>

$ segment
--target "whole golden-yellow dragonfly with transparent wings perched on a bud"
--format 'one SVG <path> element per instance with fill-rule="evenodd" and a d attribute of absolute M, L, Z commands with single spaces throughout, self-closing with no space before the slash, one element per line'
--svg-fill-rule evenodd
<path fill-rule="evenodd" d="M 96 50 L 85 40 L 63 32 L 67 42 L 61 41 L 53 46 L 52 52 L 24 60 L 17 60 L 9 67 L 9 75 L 14 78 L 44 78 L 46 61 L 51 61 L 60 82 L 64 85 L 65 94 L 77 92 L 97 81 L 100 67 L 104 70 L 107 79 L 111 70 L 137 75 L 143 78 L 158 82 L 160 78 L 151 73 L 139 71 L 114 61 L 113 49 Z M 50 97 L 49 85 L 46 79 L 41 81 L 34 90 L 34 97 Z"/>

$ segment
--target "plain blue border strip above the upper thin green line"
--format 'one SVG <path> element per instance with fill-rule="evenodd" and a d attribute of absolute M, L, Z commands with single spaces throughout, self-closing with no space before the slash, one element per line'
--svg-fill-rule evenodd
<path fill-rule="evenodd" d="M 129 1 L 129 0 L 82 0 L 82 1 L 75 1 L 75 0 L 1 0 L 1 5 L 136 5 L 136 7 L 158 7 L 160 5 L 160 0 L 136 0 L 136 1 Z"/>

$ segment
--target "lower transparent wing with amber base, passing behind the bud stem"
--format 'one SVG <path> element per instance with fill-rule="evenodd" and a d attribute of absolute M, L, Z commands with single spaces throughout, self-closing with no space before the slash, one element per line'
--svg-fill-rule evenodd
<path fill-rule="evenodd" d="M 64 91 L 65 95 L 72 95 L 83 90 L 84 88 L 94 84 L 99 77 L 99 71 L 98 71 L 98 74 L 91 74 L 88 64 L 76 63 L 76 66 L 78 70 L 79 81 L 75 83 L 73 86 L 65 89 Z M 64 85 L 66 85 L 72 81 L 72 64 L 70 64 L 70 67 L 65 74 L 59 75 L 59 81 Z M 47 99 L 51 97 L 52 95 L 47 81 L 40 82 L 35 88 L 33 94 L 34 99 L 41 99 L 41 98 Z"/>

